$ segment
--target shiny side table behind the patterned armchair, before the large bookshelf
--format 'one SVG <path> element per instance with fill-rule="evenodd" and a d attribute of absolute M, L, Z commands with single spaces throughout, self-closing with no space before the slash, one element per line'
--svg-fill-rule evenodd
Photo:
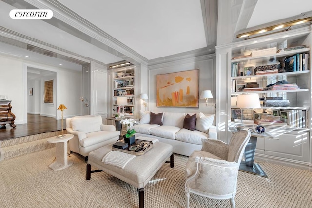
<path fill-rule="evenodd" d="M 229 127 L 231 132 L 237 132 L 237 129 L 235 127 Z M 257 133 L 253 132 L 250 136 L 249 142 L 245 148 L 244 156 L 245 156 L 245 161 L 241 161 L 239 165 L 239 170 L 243 172 L 249 172 L 254 175 L 259 175 L 262 177 L 268 177 L 267 174 L 265 174 L 264 170 L 260 167 L 260 165 L 254 163 L 254 154 L 255 154 L 255 146 L 257 144 L 257 138 L 270 138 L 274 139 L 275 137 L 268 133 L 268 132 L 263 132 L 263 133 Z"/>

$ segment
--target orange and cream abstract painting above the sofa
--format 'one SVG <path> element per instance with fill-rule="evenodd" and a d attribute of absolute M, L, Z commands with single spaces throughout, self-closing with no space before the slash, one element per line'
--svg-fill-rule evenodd
<path fill-rule="evenodd" d="M 198 107 L 199 69 L 156 76 L 157 107 Z"/>

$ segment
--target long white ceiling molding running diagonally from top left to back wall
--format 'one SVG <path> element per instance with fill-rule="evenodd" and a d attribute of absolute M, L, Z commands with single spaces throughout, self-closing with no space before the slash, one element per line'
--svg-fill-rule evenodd
<path fill-rule="evenodd" d="M 51 9 L 53 10 L 53 16 L 56 19 L 68 24 L 69 26 L 74 27 L 78 31 L 90 36 L 91 38 L 95 38 L 96 40 L 104 43 L 107 47 L 101 48 L 117 57 L 121 57 L 124 60 L 130 61 L 132 63 L 144 63 L 147 64 L 148 59 L 138 54 L 136 51 L 132 50 L 128 46 L 124 45 L 117 39 L 111 37 L 97 26 L 92 24 L 91 22 L 83 19 L 78 16 L 72 10 L 68 9 L 57 0 L 46 0 L 46 1 L 38 1 L 38 0 L 24 0 L 31 5 L 39 8 L 39 9 Z M 51 20 L 51 19 L 50 19 Z M 50 23 L 49 19 L 45 19 L 47 23 Z M 55 26 L 55 25 L 54 25 Z M 64 30 L 64 28 L 60 28 Z M 68 32 L 68 31 L 66 31 Z M 75 35 L 75 34 L 71 34 Z M 79 38 L 79 37 L 78 37 Z M 92 42 L 90 42 L 92 44 Z M 97 45 L 95 45 L 97 46 Z"/>

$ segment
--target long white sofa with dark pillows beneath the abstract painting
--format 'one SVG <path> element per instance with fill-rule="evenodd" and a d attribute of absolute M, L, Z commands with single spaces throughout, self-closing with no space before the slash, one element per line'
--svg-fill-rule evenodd
<path fill-rule="evenodd" d="M 217 139 L 216 126 L 214 125 L 215 114 L 196 113 L 196 128 L 191 131 L 183 128 L 183 122 L 187 114 L 194 115 L 195 113 L 152 112 L 163 113 L 163 125 L 149 124 L 150 112 L 140 111 L 139 124 L 131 127 L 137 131 L 136 137 L 157 138 L 160 142 L 171 144 L 174 153 L 185 156 L 190 156 L 195 150 L 201 150 L 201 139 Z"/>

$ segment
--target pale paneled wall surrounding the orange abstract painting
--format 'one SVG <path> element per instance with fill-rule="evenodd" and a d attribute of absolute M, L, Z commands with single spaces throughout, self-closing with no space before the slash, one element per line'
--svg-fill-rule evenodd
<path fill-rule="evenodd" d="M 162 112 L 186 112 L 186 113 L 214 113 L 212 106 L 206 106 L 204 99 L 199 99 L 198 108 L 184 107 L 157 107 L 156 106 L 156 75 L 180 71 L 199 69 L 199 95 L 203 90 L 211 90 L 215 97 L 214 89 L 214 65 L 215 57 L 196 57 L 184 61 L 178 61 L 170 64 L 160 64 L 149 67 L 149 92 L 147 100 L 150 111 Z M 214 99 L 208 101 L 209 104 L 215 103 Z"/>

